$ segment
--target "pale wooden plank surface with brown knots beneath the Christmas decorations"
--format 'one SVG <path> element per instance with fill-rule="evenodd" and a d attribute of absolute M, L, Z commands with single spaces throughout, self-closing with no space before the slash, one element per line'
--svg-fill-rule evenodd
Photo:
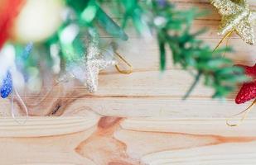
<path fill-rule="evenodd" d="M 210 11 L 196 19 L 193 31 L 206 26 L 209 31 L 201 39 L 213 47 L 220 41 L 220 16 L 207 0 L 172 2 L 181 9 Z M 255 1 L 249 3 L 256 8 Z M 255 107 L 242 125 L 225 125 L 226 117 L 251 102 L 235 105 L 236 92 L 225 101 L 211 100 L 212 91 L 202 85 L 181 101 L 191 76 L 172 66 L 171 59 L 160 73 L 155 39 L 129 35 L 119 52 L 134 72 L 123 75 L 109 68 L 100 73 L 98 92 L 89 94 L 79 83 L 68 82 L 28 93 L 23 99 L 31 117 L 24 125 L 10 117 L 9 101 L 1 100 L 0 164 L 256 164 Z M 237 64 L 254 64 L 256 46 L 237 35 L 229 45 L 236 52 L 227 55 Z M 19 102 L 16 107 L 24 115 Z"/>

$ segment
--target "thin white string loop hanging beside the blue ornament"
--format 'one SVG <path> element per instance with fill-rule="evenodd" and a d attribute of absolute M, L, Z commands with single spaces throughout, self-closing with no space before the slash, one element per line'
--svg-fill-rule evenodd
<path fill-rule="evenodd" d="M 22 122 L 20 120 L 17 120 L 17 117 L 15 115 L 15 108 L 14 108 L 14 97 L 13 97 L 13 92 L 15 93 L 17 100 L 19 100 L 22 103 L 23 108 L 25 109 L 26 112 L 26 119 L 23 120 Z M 15 87 L 13 87 L 13 92 L 11 93 L 11 113 L 12 113 L 12 118 L 20 125 L 24 125 L 27 120 L 28 120 L 28 110 L 27 110 L 27 106 L 25 104 L 25 102 L 22 100 L 22 97 L 19 95 L 19 93 L 17 92 L 17 89 Z"/>

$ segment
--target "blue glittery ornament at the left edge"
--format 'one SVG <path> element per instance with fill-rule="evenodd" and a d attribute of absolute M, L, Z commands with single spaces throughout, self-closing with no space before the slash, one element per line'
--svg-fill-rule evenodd
<path fill-rule="evenodd" d="M 6 78 L 2 81 L 2 87 L 0 88 L 0 93 L 2 98 L 6 98 L 12 92 L 12 74 L 7 71 Z"/>

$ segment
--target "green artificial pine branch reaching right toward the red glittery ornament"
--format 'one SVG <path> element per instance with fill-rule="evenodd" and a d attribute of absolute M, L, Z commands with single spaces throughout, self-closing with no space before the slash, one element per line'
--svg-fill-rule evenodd
<path fill-rule="evenodd" d="M 215 90 L 213 97 L 225 97 L 233 91 L 237 82 L 247 79 L 242 68 L 234 67 L 230 59 L 222 56 L 225 52 L 231 52 L 230 48 L 214 51 L 203 40 L 197 39 L 205 30 L 194 34 L 190 32 L 192 21 L 204 12 L 196 9 L 179 11 L 166 0 L 122 0 L 117 3 L 122 6 L 118 13 L 122 13 L 124 17 L 123 25 L 127 25 L 126 22 L 130 19 L 140 34 L 149 29 L 157 35 L 161 70 L 166 68 L 165 45 L 168 45 L 174 64 L 198 73 L 184 98 L 189 97 L 201 77 L 205 79 L 205 86 Z"/>

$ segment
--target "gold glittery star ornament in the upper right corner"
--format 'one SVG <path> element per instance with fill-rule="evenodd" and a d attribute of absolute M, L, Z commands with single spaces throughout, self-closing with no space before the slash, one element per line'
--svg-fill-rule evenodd
<path fill-rule="evenodd" d="M 221 16 L 219 35 L 235 31 L 249 45 L 254 45 L 256 11 L 247 0 L 210 0 Z"/>

